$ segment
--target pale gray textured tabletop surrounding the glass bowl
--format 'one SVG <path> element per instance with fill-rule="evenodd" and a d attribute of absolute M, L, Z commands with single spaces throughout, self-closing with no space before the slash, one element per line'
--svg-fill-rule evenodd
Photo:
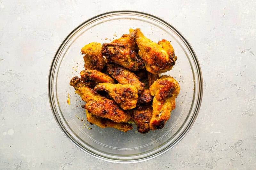
<path fill-rule="evenodd" d="M 204 79 L 195 124 L 169 152 L 120 165 L 93 158 L 61 132 L 47 94 L 52 57 L 84 20 L 137 10 L 175 26 Z M 255 169 L 255 1 L 0 1 L 0 169 Z"/>

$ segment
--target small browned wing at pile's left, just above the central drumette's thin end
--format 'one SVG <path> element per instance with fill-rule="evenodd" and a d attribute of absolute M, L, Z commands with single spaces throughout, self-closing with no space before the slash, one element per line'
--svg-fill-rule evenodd
<path fill-rule="evenodd" d="M 95 84 L 98 83 L 114 83 L 115 80 L 110 76 L 98 71 L 98 70 L 89 70 L 85 69 L 80 72 L 81 78 L 83 81 L 90 80 Z"/>

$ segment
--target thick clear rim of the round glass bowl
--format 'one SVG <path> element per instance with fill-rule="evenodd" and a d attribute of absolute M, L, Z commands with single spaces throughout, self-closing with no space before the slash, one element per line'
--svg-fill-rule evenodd
<path fill-rule="evenodd" d="M 172 144 L 168 145 L 168 146 L 165 146 L 162 150 L 160 150 L 159 152 L 157 153 L 154 153 L 152 155 L 149 155 L 147 157 L 142 157 L 142 158 L 139 158 L 139 159 L 127 159 L 127 160 L 119 160 L 119 159 L 111 159 L 111 158 L 107 158 L 107 157 L 104 157 L 102 155 L 99 155 L 95 152 L 91 152 L 89 150 L 86 150 L 84 147 L 80 146 L 80 144 L 78 142 L 76 142 L 76 140 L 69 134 L 69 132 L 67 131 L 67 129 L 65 129 L 64 125 L 63 125 L 63 122 L 61 122 L 60 118 L 59 118 L 59 115 L 56 113 L 56 108 L 55 108 L 55 105 L 54 105 L 54 97 L 53 97 L 53 78 L 54 78 L 54 74 L 55 74 L 55 69 L 56 69 L 56 65 L 58 63 L 58 60 L 60 58 L 60 56 L 58 56 L 58 53 L 61 51 L 63 45 L 68 41 L 68 39 L 70 38 L 70 36 L 81 26 L 83 26 L 84 24 L 86 23 L 89 23 L 93 20 L 96 20 L 98 18 L 102 18 L 103 16 L 108 16 L 108 15 L 113 15 L 113 14 L 132 14 L 132 15 L 142 15 L 144 17 L 151 17 L 151 18 L 154 18 L 155 20 L 157 20 L 158 22 L 160 22 L 161 24 L 164 24 L 166 26 L 168 26 L 170 29 L 172 29 L 175 33 L 177 33 L 180 38 L 183 40 L 183 42 L 186 44 L 187 48 L 189 49 L 190 51 L 190 54 L 192 55 L 193 57 L 193 62 L 195 64 L 195 67 L 196 67 L 196 75 L 198 77 L 198 93 L 196 94 L 197 95 L 197 100 L 194 101 L 196 103 L 196 108 L 194 110 L 194 112 L 192 113 L 193 115 L 191 116 L 191 119 L 189 120 L 186 128 L 183 130 L 183 132 L 180 134 L 180 136 L 176 139 L 176 141 L 174 141 Z M 150 18 L 150 19 L 151 19 Z M 72 37 L 71 37 L 72 38 Z M 105 13 L 102 13 L 100 15 L 97 15 L 97 16 L 94 16 L 86 21 L 84 21 L 82 24 L 80 24 L 79 26 L 77 26 L 74 30 L 72 30 L 68 36 L 64 39 L 64 41 L 62 41 L 62 43 L 60 44 L 60 47 L 58 48 L 58 50 L 56 51 L 53 59 L 52 59 L 52 64 L 51 64 L 51 67 L 50 67 L 50 70 L 49 70 L 49 76 L 48 76 L 48 97 L 49 97 L 49 102 L 50 102 L 50 106 L 51 106 L 51 109 L 52 109 L 52 114 L 58 124 L 58 126 L 60 127 L 60 129 L 62 130 L 62 132 L 66 135 L 66 137 L 68 137 L 68 139 L 73 143 L 75 144 L 78 148 L 80 148 L 82 151 L 86 152 L 87 154 L 95 157 L 95 158 L 98 158 L 98 159 L 101 159 L 101 160 L 105 160 L 105 161 L 108 161 L 108 162 L 113 162 L 113 163 L 136 163 L 136 162 L 142 162 L 142 161 L 146 161 L 146 160 L 149 160 L 149 159 L 153 159 L 153 158 L 156 158 L 157 156 L 159 155 L 162 155 L 163 153 L 169 151 L 172 147 L 174 147 L 176 144 L 178 144 L 180 142 L 180 140 L 185 137 L 185 135 L 188 133 L 188 131 L 191 129 L 193 123 L 195 122 L 196 120 L 196 117 L 198 115 L 198 112 L 199 112 L 199 109 L 200 109 L 200 106 L 201 106 L 201 101 L 202 101 L 202 96 L 203 96 L 203 78 L 202 78 L 202 73 L 201 73 L 201 68 L 200 68 L 200 64 L 198 62 L 198 59 L 196 57 L 196 54 L 193 50 L 193 48 L 191 47 L 191 45 L 189 44 L 189 42 L 186 40 L 186 38 L 176 29 L 174 28 L 172 25 L 170 25 L 169 23 L 167 23 L 166 21 L 164 21 L 163 19 L 161 18 L 158 18 L 154 15 L 151 15 L 151 14 L 148 14 L 148 13 L 144 13 L 144 12 L 140 12 L 140 11 L 109 11 L 109 12 L 105 12 Z"/>

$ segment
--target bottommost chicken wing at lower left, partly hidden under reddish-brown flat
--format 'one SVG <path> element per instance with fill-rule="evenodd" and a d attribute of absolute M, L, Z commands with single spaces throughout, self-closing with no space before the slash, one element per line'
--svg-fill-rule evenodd
<path fill-rule="evenodd" d="M 93 115 L 90 112 L 86 112 L 86 116 L 87 116 L 87 121 L 95 124 L 97 126 L 99 126 L 100 128 L 116 128 L 117 130 L 121 130 L 123 132 L 127 132 L 128 130 L 132 130 L 132 124 L 130 123 L 117 123 L 117 122 L 113 122 L 109 119 L 106 118 L 102 118 L 96 115 Z"/>

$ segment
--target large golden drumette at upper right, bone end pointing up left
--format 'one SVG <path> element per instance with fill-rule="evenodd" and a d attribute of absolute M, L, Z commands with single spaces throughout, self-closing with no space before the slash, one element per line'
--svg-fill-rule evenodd
<path fill-rule="evenodd" d="M 162 40 L 157 44 L 145 37 L 139 28 L 130 33 L 130 38 L 138 45 L 148 72 L 159 74 L 172 69 L 177 57 L 169 41 Z"/>

